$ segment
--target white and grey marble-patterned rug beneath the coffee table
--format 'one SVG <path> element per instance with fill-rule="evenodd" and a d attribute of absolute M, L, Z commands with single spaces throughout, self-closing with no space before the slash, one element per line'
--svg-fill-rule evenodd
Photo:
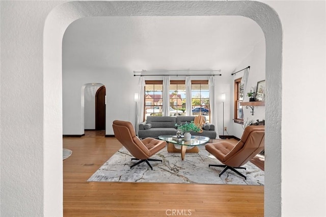
<path fill-rule="evenodd" d="M 167 148 L 152 156 L 160 161 L 150 161 L 153 170 L 146 162 L 134 166 L 137 160 L 129 151 L 122 147 L 108 159 L 87 181 L 88 182 L 160 182 L 160 183 L 200 183 L 200 184 L 242 184 L 264 185 L 264 171 L 250 161 L 244 165 L 247 170 L 239 172 L 247 176 L 247 180 L 228 170 L 221 177 L 223 168 L 208 167 L 209 164 L 220 164 L 213 155 L 198 146 L 199 153 L 186 153 L 181 160 L 180 153 L 169 153 Z"/>

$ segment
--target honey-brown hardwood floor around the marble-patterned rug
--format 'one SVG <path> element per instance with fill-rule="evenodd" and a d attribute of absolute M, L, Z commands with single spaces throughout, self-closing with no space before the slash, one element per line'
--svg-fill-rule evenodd
<path fill-rule="evenodd" d="M 63 138 L 64 216 L 263 216 L 264 187 L 247 185 L 87 182 L 122 146 L 85 131 Z"/>

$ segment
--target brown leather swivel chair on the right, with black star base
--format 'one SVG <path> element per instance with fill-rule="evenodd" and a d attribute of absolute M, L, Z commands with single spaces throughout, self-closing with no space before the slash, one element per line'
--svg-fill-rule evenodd
<path fill-rule="evenodd" d="M 206 144 L 205 149 L 224 164 L 208 166 L 224 167 L 224 170 L 219 174 L 220 177 L 225 171 L 230 169 L 244 179 L 247 179 L 246 176 L 236 169 L 246 170 L 246 168 L 241 166 L 264 150 L 264 137 L 265 126 L 251 125 L 244 129 L 241 140 L 236 145 L 232 145 L 228 142 Z"/>

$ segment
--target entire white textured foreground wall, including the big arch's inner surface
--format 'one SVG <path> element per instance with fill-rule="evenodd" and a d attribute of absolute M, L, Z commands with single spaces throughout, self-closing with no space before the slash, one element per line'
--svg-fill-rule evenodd
<path fill-rule="evenodd" d="M 43 35 L 47 14 L 61 3 L 1 2 L 0 210 L 3 216 L 62 216 L 62 38 L 73 20 L 92 14 L 104 15 L 105 2 L 90 3 L 92 13 L 76 10 L 74 5 L 82 3 L 63 4 L 48 16 Z M 124 12 L 120 15 L 225 13 L 255 19 L 266 35 L 266 82 L 269 81 L 265 215 L 324 216 L 325 3 L 266 3 L 280 17 L 283 48 L 277 16 L 259 2 L 193 2 L 192 7 L 181 2 L 172 8 L 164 2 L 142 2 L 133 4 L 132 8 L 120 5 L 110 13 L 119 10 Z M 293 104 L 306 98 L 318 102 L 318 106 L 293 109 Z M 307 127 L 312 122 L 313 127 Z M 318 151 L 309 158 L 309 164 L 303 164 L 307 147 L 311 146 Z"/>

